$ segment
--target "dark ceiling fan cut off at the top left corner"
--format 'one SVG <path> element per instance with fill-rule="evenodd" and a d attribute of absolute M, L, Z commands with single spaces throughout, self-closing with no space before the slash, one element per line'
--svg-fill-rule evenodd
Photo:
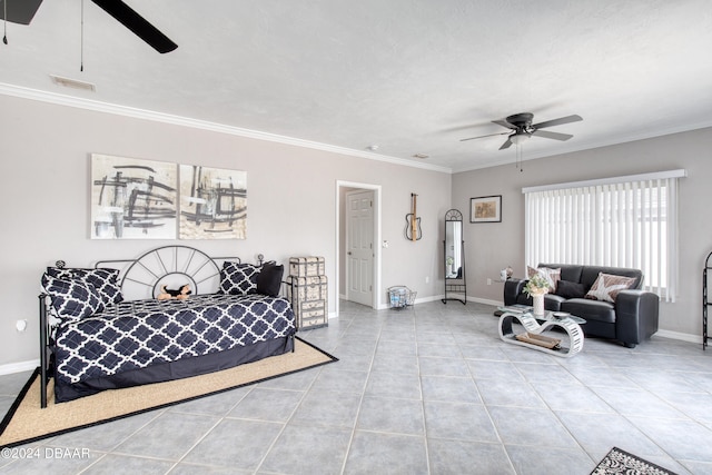
<path fill-rule="evenodd" d="M 178 48 L 167 36 L 138 14 L 131 7 L 121 0 L 91 0 L 103 11 L 109 13 L 119 23 L 131 30 L 136 36 L 146 41 L 160 53 L 169 52 Z M 30 24 L 42 0 L 0 0 L 2 19 L 20 24 Z M 6 41 L 7 43 L 7 41 Z"/>

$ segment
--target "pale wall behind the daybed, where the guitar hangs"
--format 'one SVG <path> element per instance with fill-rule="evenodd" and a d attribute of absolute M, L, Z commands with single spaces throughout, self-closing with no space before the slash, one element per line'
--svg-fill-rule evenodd
<path fill-rule="evenodd" d="M 255 261 L 260 253 L 278 261 L 324 256 L 329 283 L 335 283 L 337 180 L 383 187 L 383 239 L 390 247 L 383 249 L 380 293 L 407 285 L 418 297 L 442 294 L 436 263 L 438 222 L 449 208 L 448 174 L 9 96 L 0 96 L 0 366 L 39 357 L 39 280 L 57 259 L 71 267 L 92 266 L 99 259 L 134 258 L 179 243 L 245 261 Z M 247 239 L 89 239 L 92 152 L 246 170 Z M 415 244 L 403 238 L 411 192 L 419 195 L 425 235 Z M 330 285 L 332 313 L 337 297 Z M 29 321 L 24 333 L 16 330 L 18 319 Z"/>

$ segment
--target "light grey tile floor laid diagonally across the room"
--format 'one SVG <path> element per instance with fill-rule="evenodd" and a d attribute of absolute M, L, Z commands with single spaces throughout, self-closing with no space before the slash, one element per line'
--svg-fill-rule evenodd
<path fill-rule="evenodd" d="M 300 333 L 338 363 L 42 441 L 0 473 L 571 475 L 617 446 L 712 474 L 712 348 L 589 338 L 557 358 L 501 342 L 493 310 L 342 301 Z M 0 410 L 28 376 L 0 377 Z"/>

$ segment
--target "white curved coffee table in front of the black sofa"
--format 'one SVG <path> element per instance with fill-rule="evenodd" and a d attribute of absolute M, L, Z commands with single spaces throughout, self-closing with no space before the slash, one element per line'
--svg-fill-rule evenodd
<path fill-rule="evenodd" d="M 558 318 L 554 317 L 553 311 L 546 311 L 544 315 L 533 315 L 528 311 L 508 311 L 506 307 L 501 307 L 500 310 L 502 310 L 502 315 L 500 316 L 500 338 L 505 343 L 524 346 L 563 358 L 570 358 L 583 349 L 584 335 L 578 325 L 586 323 L 583 318 L 573 315 Z M 523 334 L 520 335 L 524 340 L 517 339 L 517 335 L 515 335 L 512 329 L 512 324 L 515 320 L 524 327 L 524 336 L 522 336 Z M 560 327 L 566 333 L 568 336 L 568 346 L 565 346 L 564 344 L 566 342 L 563 340 L 555 348 L 542 346 L 551 340 L 550 337 L 543 337 L 542 333 L 554 327 Z M 542 342 L 542 344 L 537 345 L 531 342 Z"/>

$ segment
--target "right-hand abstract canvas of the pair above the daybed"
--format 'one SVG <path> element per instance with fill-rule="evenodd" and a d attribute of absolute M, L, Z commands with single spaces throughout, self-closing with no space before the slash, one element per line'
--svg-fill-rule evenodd
<path fill-rule="evenodd" d="M 247 172 L 180 166 L 180 239 L 247 239 Z"/>

